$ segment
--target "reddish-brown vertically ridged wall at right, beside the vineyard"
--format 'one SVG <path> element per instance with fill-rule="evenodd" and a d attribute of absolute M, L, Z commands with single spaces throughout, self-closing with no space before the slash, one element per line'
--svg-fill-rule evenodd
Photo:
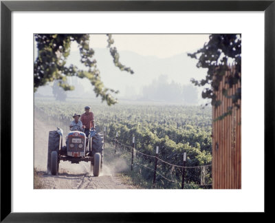
<path fill-rule="evenodd" d="M 225 98 L 222 89 L 229 89 L 229 95 L 241 87 L 241 83 L 231 89 L 225 84 L 225 78 L 234 72 L 234 67 L 223 76 L 217 92 L 221 105 L 212 108 L 213 120 L 232 106 L 232 99 Z M 238 101 L 241 105 L 241 100 Z M 241 189 L 241 109 L 234 107 L 232 115 L 217 120 L 212 125 L 212 189 Z"/>

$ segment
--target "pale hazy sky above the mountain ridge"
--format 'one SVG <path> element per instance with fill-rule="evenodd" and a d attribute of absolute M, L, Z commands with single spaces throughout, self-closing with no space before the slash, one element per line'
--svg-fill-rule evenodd
<path fill-rule="evenodd" d="M 157 56 L 166 58 L 193 52 L 208 42 L 206 34 L 113 34 L 115 47 L 118 50 L 132 51 L 142 56 Z M 106 34 L 91 34 L 91 47 L 104 48 L 107 46 Z M 72 44 L 72 51 L 78 50 Z"/>

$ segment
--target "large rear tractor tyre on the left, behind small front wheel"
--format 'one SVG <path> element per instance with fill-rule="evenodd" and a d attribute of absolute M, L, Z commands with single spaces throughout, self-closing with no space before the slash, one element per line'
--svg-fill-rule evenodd
<path fill-rule="evenodd" d="M 59 149 L 62 146 L 62 136 L 58 134 L 56 130 L 49 132 L 49 140 L 47 143 L 47 173 L 51 171 L 51 156 L 52 151 L 56 151 L 58 154 Z"/>

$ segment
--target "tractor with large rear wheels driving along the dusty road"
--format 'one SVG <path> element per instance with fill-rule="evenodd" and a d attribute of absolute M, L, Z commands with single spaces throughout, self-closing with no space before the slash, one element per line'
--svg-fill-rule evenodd
<path fill-rule="evenodd" d="M 47 173 L 56 175 L 61 160 L 72 163 L 91 162 L 91 171 L 99 176 L 103 167 L 104 137 L 99 129 L 91 129 L 89 137 L 83 131 L 72 131 L 66 136 L 63 146 L 63 130 L 49 132 L 47 151 Z M 84 129 L 83 129 L 84 130 Z"/>

